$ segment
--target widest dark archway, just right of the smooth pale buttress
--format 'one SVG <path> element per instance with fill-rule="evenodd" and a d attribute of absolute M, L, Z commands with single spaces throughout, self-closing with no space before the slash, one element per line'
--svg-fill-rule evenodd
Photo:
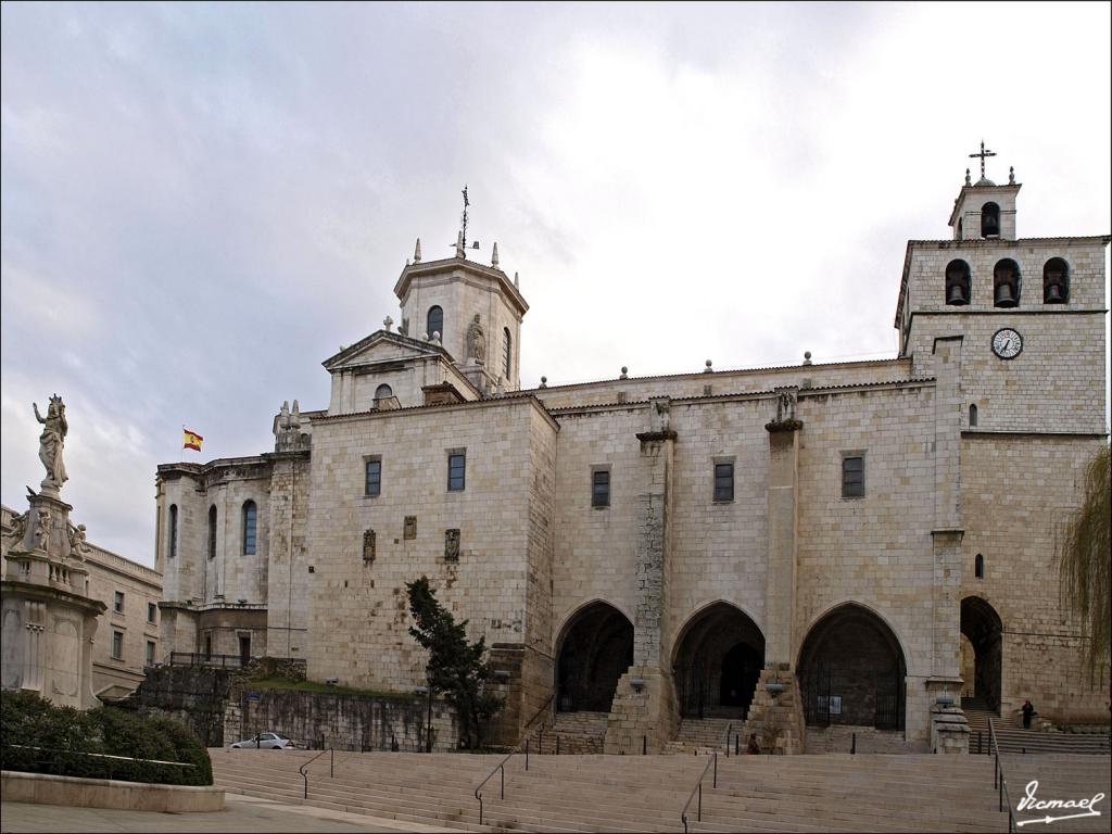
<path fill-rule="evenodd" d="M 864 606 L 840 605 L 811 627 L 797 674 L 807 724 L 904 728 L 903 649 Z"/>

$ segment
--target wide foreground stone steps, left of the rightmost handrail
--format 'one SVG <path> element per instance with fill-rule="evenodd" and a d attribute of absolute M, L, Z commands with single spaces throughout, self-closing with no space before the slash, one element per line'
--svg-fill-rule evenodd
<path fill-rule="evenodd" d="M 476 785 L 502 757 L 473 754 L 336 753 L 298 767 L 314 751 L 210 751 L 216 784 L 229 793 L 287 804 L 423 823 L 444 831 L 677 832 L 681 810 L 706 756 L 514 756 L 485 786 L 479 825 Z M 1011 778 L 1011 777 L 1010 777 Z M 707 774 L 695 832 L 999 832 L 992 762 L 981 756 L 718 757 Z"/>

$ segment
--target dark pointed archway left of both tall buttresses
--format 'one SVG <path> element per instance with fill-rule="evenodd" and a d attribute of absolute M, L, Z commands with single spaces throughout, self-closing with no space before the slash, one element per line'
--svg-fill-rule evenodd
<path fill-rule="evenodd" d="M 564 627 L 556 662 L 556 708 L 609 712 L 633 664 L 633 623 L 608 603 L 584 606 Z"/>

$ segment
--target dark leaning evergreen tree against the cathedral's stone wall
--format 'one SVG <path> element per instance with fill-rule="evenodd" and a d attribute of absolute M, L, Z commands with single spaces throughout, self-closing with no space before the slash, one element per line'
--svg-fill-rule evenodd
<path fill-rule="evenodd" d="M 429 686 L 444 693 L 456 708 L 468 746 L 479 746 L 481 722 L 503 705 L 500 697 L 483 692 L 490 677 L 490 666 L 483 659 L 486 638 L 479 637 L 475 643 L 467 639 L 467 620 L 456 623 L 451 612 L 437 602 L 428 577 L 406 583 L 406 592 L 415 623 L 409 634 L 428 649 Z"/>

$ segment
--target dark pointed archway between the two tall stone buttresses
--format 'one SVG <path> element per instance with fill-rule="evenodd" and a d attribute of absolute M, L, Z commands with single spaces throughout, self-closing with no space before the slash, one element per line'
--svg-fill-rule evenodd
<path fill-rule="evenodd" d="M 764 635 L 756 623 L 729 603 L 715 603 L 688 620 L 676 645 L 679 714 L 744 719 L 764 668 Z"/>

